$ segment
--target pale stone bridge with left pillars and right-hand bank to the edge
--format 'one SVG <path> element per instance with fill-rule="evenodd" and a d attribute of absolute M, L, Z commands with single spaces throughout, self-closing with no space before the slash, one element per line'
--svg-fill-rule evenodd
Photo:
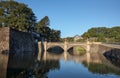
<path fill-rule="evenodd" d="M 41 46 L 44 46 L 42 47 Z M 96 48 L 95 45 L 93 46 L 92 44 L 97 44 Z M 91 46 L 92 45 L 92 46 Z M 100 51 L 101 54 L 105 53 L 106 51 L 109 51 L 111 49 L 117 48 L 120 49 L 120 45 L 113 45 L 113 44 L 105 44 L 105 43 L 101 43 L 101 42 L 84 42 L 84 43 L 68 43 L 68 42 L 38 42 L 38 48 L 39 48 L 39 52 L 38 52 L 38 60 L 40 60 L 41 58 L 41 53 L 42 53 L 42 49 L 44 49 L 43 52 L 43 57 L 44 59 L 46 59 L 47 57 L 47 50 L 49 48 L 53 48 L 59 46 L 64 50 L 63 56 L 65 59 L 67 59 L 68 57 L 68 49 L 70 49 L 71 47 L 75 47 L 75 46 L 80 46 L 83 47 L 87 53 L 90 53 L 90 51 L 92 51 L 92 53 L 96 53 L 97 51 Z M 95 51 L 95 52 L 94 52 Z"/>

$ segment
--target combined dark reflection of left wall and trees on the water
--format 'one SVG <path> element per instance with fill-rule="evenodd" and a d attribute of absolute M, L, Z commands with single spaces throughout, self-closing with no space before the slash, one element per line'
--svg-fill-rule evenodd
<path fill-rule="evenodd" d="M 35 59 L 36 56 L 34 57 L 31 53 L 25 53 L 18 56 L 12 52 L 9 57 L 8 65 L 4 70 L 5 77 L 0 75 L 0 78 L 48 78 L 47 73 L 50 70 L 60 69 L 59 60 L 47 59 L 35 61 Z M 2 67 L 2 69 L 3 68 L 4 67 Z"/>

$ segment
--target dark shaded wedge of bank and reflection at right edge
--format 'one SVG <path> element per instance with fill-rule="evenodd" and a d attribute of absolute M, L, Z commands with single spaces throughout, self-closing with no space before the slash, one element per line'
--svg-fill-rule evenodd
<path fill-rule="evenodd" d="M 111 49 L 103 54 L 112 64 L 120 67 L 120 49 Z"/>

